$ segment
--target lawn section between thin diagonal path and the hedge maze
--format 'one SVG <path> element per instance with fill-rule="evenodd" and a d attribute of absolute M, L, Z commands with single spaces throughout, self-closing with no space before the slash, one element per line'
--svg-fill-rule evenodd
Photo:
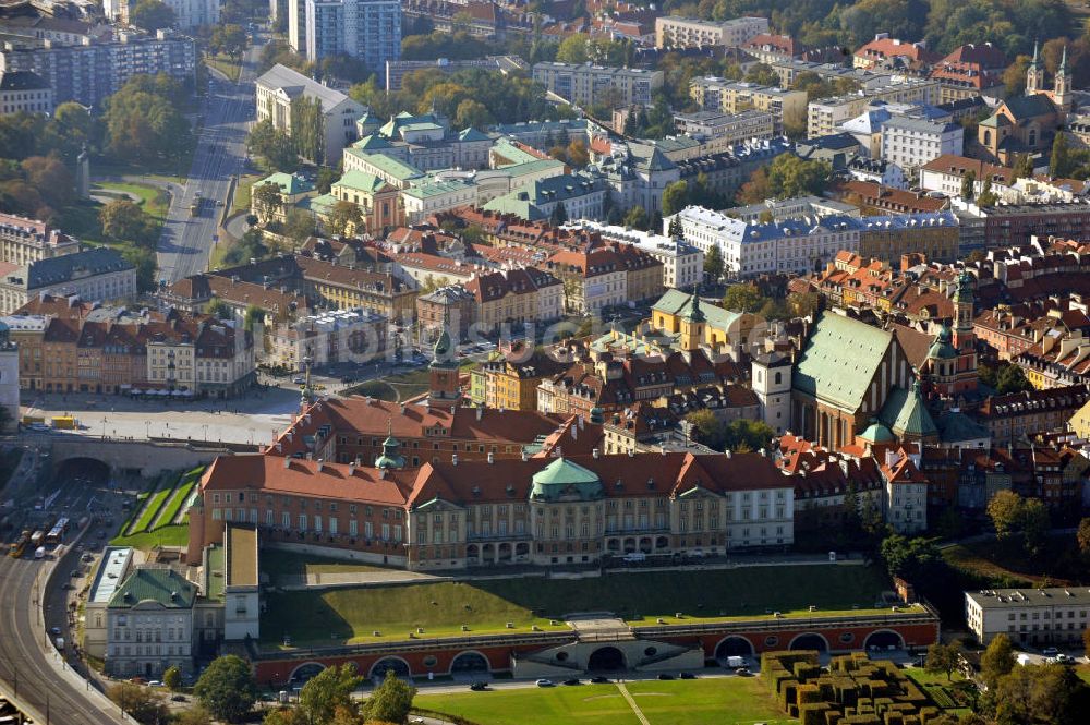
<path fill-rule="evenodd" d="M 652 725 L 705 723 L 795 723 L 776 706 L 771 690 L 756 677 L 626 684 Z"/>

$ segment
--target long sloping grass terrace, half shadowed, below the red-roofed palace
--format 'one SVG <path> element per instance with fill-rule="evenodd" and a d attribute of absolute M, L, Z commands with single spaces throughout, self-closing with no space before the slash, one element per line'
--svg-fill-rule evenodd
<path fill-rule="evenodd" d="M 537 577 L 474 582 L 436 582 L 286 592 L 268 597 L 262 630 L 277 642 L 287 632 L 295 643 L 374 641 L 404 638 L 423 627 L 425 636 L 457 636 L 461 625 L 471 631 L 506 631 L 506 623 L 525 631 L 531 625 L 548 629 L 550 618 L 577 612 L 609 611 L 634 625 L 655 625 L 730 617 L 826 616 L 835 611 L 873 607 L 888 588 L 883 572 L 859 566 L 747 567 L 708 571 L 617 573 L 581 580 Z M 435 604 L 433 604 L 433 602 Z M 819 613 L 811 615 L 809 605 Z M 467 608 L 467 606 L 469 608 Z M 883 609 L 886 612 L 887 609 Z M 300 620 L 299 612 L 310 612 Z"/>

